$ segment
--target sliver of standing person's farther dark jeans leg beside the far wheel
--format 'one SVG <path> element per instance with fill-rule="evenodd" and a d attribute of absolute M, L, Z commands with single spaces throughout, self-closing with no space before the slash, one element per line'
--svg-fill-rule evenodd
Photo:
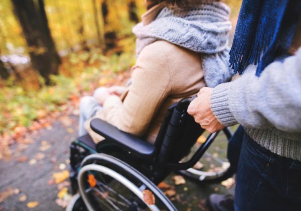
<path fill-rule="evenodd" d="M 231 163 L 231 170 L 236 173 L 240 149 L 243 140 L 244 129 L 240 125 L 235 131 L 234 135 L 229 140 L 227 157 L 229 162 Z"/>

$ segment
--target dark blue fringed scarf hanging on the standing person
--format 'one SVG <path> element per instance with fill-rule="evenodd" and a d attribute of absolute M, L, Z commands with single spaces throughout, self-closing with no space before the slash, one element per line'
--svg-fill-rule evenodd
<path fill-rule="evenodd" d="M 260 76 L 278 50 L 290 47 L 300 13 L 300 0 L 243 0 L 230 50 L 234 73 L 258 64 Z"/>

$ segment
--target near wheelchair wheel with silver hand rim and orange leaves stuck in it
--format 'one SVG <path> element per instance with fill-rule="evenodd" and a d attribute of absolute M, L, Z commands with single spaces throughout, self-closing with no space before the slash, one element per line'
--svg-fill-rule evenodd
<path fill-rule="evenodd" d="M 106 154 L 92 154 L 84 159 L 78 184 L 89 210 L 176 210 L 154 183 Z"/>

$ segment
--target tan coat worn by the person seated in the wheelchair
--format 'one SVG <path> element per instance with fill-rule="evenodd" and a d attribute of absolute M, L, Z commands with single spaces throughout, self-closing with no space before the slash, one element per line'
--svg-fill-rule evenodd
<path fill-rule="evenodd" d="M 96 118 L 154 143 L 170 105 L 205 86 L 200 55 L 166 41 L 146 46 L 137 58 L 124 100 L 109 96 Z M 101 137 L 86 123 L 95 142 Z"/>

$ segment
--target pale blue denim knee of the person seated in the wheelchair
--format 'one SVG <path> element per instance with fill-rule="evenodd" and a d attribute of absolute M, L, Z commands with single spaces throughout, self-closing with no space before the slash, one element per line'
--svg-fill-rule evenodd
<path fill-rule="evenodd" d="M 78 135 L 83 136 L 88 132 L 84 127 L 84 123 L 93 117 L 97 111 L 101 110 L 101 105 L 96 101 L 92 96 L 84 96 L 80 99 L 79 103 L 79 126 L 78 126 Z"/>

